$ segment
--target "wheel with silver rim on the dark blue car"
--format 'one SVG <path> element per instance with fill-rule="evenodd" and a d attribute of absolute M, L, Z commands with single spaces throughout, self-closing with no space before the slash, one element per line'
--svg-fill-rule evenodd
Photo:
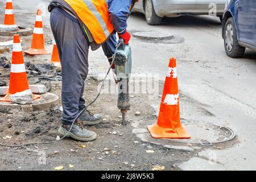
<path fill-rule="evenodd" d="M 229 18 L 225 24 L 224 44 L 226 54 L 229 57 L 242 57 L 245 53 L 245 47 L 238 44 L 237 30 L 233 18 Z"/>

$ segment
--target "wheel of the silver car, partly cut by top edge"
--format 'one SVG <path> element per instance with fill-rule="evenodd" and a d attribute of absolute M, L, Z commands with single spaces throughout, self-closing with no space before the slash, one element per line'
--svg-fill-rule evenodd
<path fill-rule="evenodd" d="M 151 24 L 151 25 L 161 24 L 162 18 L 155 14 L 152 0 L 145 1 L 144 9 L 145 9 L 146 21 L 148 24 Z"/>

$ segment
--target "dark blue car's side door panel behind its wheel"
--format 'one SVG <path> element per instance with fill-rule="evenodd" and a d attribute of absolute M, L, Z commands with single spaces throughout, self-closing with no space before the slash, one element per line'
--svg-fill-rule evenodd
<path fill-rule="evenodd" d="M 237 5 L 240 42 L 256 46 L 256 1 L 240 0 Z"/>

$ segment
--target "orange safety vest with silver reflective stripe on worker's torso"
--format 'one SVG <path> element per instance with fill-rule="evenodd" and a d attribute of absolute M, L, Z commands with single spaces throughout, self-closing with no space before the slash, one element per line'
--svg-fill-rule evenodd
<path fill-rule="evenodd" d="M 64 0 L 89 29 L 97 44 L 102 44 L 114 31 L 107 0 Z"/>

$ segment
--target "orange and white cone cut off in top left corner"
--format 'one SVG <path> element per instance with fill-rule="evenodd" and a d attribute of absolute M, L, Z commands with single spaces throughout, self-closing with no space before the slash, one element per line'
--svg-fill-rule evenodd
<path fill-rule="evenodd" d="M 1 31 L 15 31 L 19 29 L 14 20 L 12 0 L 6 0 L 5 19 L 3 24 L 0 24 L 0 29 Z"/>

